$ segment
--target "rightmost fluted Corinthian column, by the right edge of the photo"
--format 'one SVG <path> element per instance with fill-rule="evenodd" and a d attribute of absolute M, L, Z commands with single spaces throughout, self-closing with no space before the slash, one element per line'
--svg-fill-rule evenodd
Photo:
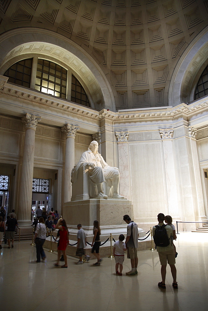
<path fill-rule="evenodd" d="M 188 133 L 189 133 L 190 142 L 191 142 L 191 154 L 192 154 L 193 169 L 194 169 L 195 184 L 196 184 L 198 214 L 199 214 L 199 219 L 203 220 L 207 218 L 205 215 L 204 200 L 203 200 L 203 193 L 202 193 L 202 187 L 201 187 L 199 159 L 198 159 L 197 148 L 196 148 L 196 128 L 189 126 Z"/>

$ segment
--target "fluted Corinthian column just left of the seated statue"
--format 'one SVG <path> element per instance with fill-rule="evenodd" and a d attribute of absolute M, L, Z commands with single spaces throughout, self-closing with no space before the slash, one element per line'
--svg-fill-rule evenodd
<path fill-rule="evenodd" d="M 64 167 L 64 202 L 69 202 L 72 196 L 71 171 L 74 167 L 74 139 L 79 128 L 66 124 L 61 128 L 66 134 L 65 167 Z"/>

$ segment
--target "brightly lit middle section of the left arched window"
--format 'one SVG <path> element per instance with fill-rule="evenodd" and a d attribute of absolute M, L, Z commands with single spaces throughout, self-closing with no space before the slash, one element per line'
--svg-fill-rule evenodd
<path fill-rule="evenodd" d="M 66 99 L 67 70 L 38 58 L 35 90 Z"/>

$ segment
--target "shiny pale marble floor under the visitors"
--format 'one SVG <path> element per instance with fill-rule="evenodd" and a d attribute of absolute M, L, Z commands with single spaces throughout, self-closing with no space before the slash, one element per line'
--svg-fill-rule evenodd
<path fill-rule="evenodd" d="M 205 311 L 208 308 L 208 234 L 177 235 L 178 290 L 173 290 L 169 266 L 166 290 L 161 281 L 157 251 L 138 253 L 137 276 L 126 276 L 130 260 L 124 261 L 123 276 L 116 276 L 114 259 L 102 266 L 76 265 L 68 257 L 68 269 L 54 267 L 56 253 L 36 263 L 36 249 L 28 242 L 0 249 L 0 307 L 3 311 Z"/>

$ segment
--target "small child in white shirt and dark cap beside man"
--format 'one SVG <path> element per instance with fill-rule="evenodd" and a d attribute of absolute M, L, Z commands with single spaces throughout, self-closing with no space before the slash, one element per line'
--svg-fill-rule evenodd
<path fill-rule="evenodd" d="M 123 270 L 123 262 L 124 262 L 124 252 L 126 251 L 126 245 L 123 242 L 125 239 L 123 234 L 119 235 L 119 240 L 115 242 L 113 246 L 113 256 L 116 261 L 116 274 L 122 275 Z M 120 272 L 118 271 L 118 266 L 120 268 Z"/>

